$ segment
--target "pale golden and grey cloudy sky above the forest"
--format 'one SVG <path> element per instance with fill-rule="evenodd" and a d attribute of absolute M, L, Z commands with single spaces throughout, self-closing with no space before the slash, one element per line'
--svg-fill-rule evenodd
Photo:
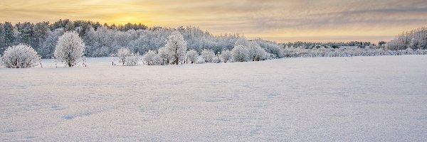
<path fill-rule="evenodd" d="M 378 42 L 427 26 L 426 0 L 0 0 L 0 21 L 196 26 L 277 42 Z"/>

